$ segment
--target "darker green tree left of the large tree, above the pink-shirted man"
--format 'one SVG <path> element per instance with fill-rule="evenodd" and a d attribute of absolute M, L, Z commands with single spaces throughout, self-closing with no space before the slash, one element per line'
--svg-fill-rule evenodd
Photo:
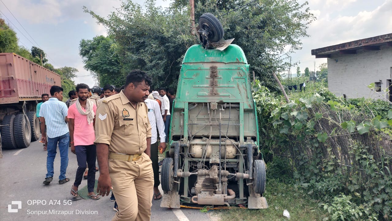
<path fill-rule="evenodd" d="M 79 55 L 83 58 L 84 68 L 91 71 L 95 78 L 99 75 L 101 85 L 121 86 L 125 83 L 116 47 L 116 43 L 109 36 L 101 35 L 93 40 L 80 41 Z"/>

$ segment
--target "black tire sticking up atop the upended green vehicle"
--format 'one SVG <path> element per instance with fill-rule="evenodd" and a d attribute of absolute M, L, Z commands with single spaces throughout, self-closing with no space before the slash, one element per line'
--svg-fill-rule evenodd
<path fill-rule="evenodd" d="M 208 35 L 210 42 L 219 42 L 223 38 L 223 26 L 214 15 L 211 13 L 204 13 L 199 18 L 200 29 L 209 28 L 212 32 Z"/>

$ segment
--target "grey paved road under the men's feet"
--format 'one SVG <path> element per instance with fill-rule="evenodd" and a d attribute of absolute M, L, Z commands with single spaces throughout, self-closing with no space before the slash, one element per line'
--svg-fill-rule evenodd
<path fill-rule="evenodd" d="M 72 201 L 69 195 L 77 168 L 76 155 L 69 150 L 67 177 L 70 182 L 59 185 L 60 155 L 54 161 L 54 179 L 51 184 L 43 185 L 46 174 L 46 151 L 42 144 L 32 142 L 28 148 L 19 150 L 3 150 L 0 159 L 0 220 L 4 221 L 105 221 L 114 216 L 113 202 L 109 196 L 99 200 Z M 97 172 L 96 179 L 98 179 Z M 83 180 L 81 187 L 87 185 Z M 162 192 L 162 189 L 161 189 Z M 46 201 L 38 204 L 37 201 Z M 12 201 L 21 201 L 18 212 L 8 212 Z M 32 205 L 34 203 L 34 205 Z M 49 204 L 53 205 L 49 205 Z M 30 204 L 30 205 L 29 205 Z M 38 204 L 38 205 L 37 205 Z M 58 205 L 60 204 L 60 205 Z M 64 205 L 65 204 L 65 205 Z M 18 208 L 12 205 L 11 209 Z M 73 214 L 42 215 L 39 211 L 57 210 Z M 160 207 L 160 200 L 152 200 L 151 221 L 216 221 L 214 212 L 202 213 L 195 209 L 168 209 Z M 37 211 L 37 212 L 35 212 Z M 91 212 L 91 214 L 86 214 Z M 34 214 L 35 213 L 35 214 Z"/>

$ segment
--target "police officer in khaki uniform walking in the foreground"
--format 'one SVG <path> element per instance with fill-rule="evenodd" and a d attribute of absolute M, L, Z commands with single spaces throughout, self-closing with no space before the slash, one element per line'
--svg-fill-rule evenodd
<path fill-rule="evenodd" d="M 144 103 L 150 84 L 145 72 L 133 70 L 125 88 L 105 98 L 96 111 L 95 143 L 101 171 L 97 191 L 102 196 L 113 191 L 118 212 L 112 221 L 150 220 L 154 174 L 151 126 Z"/>

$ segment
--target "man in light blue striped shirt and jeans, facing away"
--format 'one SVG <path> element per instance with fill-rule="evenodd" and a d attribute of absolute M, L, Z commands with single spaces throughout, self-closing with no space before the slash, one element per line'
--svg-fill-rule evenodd
<path fill-rule="evenodd" d="M 53 162 L 56 157 L 56 149 L 60 150 L 61 164 L 60 164 L 60 176 L 58 177 L 59 184 L 64 184 L 69 181 L 65 177 L 68 166 L 68 144 L 69 144 L 69 130 L 68 130 L 68 108 L 67 105 L 62 102 L 63 100 L 63 88 L 59 86 L 52 86 L 50 89 L 51 98 L 43 103 L 40 108 L 40 121 L 41 121 L 41 141 L 46 142 L 47 135 L 47 158 L 46 158 L 46 169 L 47 174 L 43 184 L 47 185 L 53 180 Z M 46 124 L 46 132 L 45 132 Z"/>

